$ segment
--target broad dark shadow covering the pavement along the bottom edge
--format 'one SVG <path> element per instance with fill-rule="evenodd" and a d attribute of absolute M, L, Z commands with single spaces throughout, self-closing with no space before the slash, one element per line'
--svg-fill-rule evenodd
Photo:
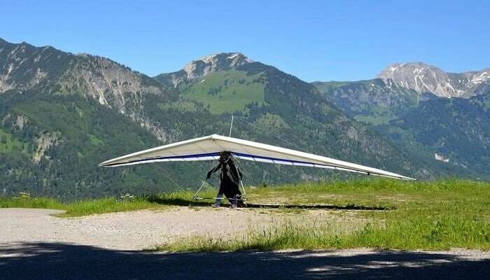
<path fill-rule="evenodd" d="M 489 273 L 489 259 L 446 253 L 148 253 L 65 243 L 0 244 L 4 280 L 484 279 Z"/>

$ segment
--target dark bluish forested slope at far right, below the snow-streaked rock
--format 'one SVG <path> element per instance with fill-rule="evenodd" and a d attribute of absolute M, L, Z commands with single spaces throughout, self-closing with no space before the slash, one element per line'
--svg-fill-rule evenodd
<path fill-rule="evenodd" d="M 413 139 L 430 157 L 490 178 L 490 109 L 482 101 L 484 95 L 429 99 L 377 130 L 402 145 Z"/>

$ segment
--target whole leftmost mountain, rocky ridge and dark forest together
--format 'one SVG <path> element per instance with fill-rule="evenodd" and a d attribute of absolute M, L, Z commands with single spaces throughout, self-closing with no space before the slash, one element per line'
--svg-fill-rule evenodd
<path fill-rule="evenodd" d="M 167 134 L 146 118 L 143 104 L 169 104 L 172 97 L 152 78 L 104 57 L 1 40 L 0 62 L 2 193 L 69 199 L 148 193 L 176 188 L 165 174 L 185 185 L 202 173 L 185 164 L 97 167 L 162 144 Z"/>

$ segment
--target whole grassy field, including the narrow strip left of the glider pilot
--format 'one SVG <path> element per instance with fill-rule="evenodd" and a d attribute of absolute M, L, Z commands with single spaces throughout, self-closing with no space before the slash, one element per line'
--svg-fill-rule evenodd
<path fill-rule="evenodd" d="M 167 205 L 188 206 L 190 192 L 169 193 L 133 200 L 87 200 L 63 204 L 47 198 L 16 197 L 0 199 L 0 207 L 35 207 L 65 209 L 64 216 L 135 209 L 158 209 Z M 202 193 L 213 197 L 214 190 Z M 248 189 L 248 201 L 258 214 L 288 211 L 297 217 L 306 211 L 329 211 L 340 217 L 358 216 L 370 221 L 362 227 L 339 232 L 339 223 L 301 223 L 276 220 L 267 228 L 248 228 L 244 238 L 211 239 L 190 237 L 162 244 L 158 251 L 239 251 L 246 249 L 275 250 L 286 248 L 391 248 L 490 249 L 490 183 L 477 181 L 397 181 L 362 180 L 329 183 L 304 183 L 295 186 L 258 187 Z M 317 206 L 330 205 L 328 209 Z M 275 207 L 282 206 L 276 209 Z M 305 209 L 292 211 L 287 206 Z M 262 207 L 262 208 L 260 208 Z M 309 207 L 309 208 L 308 208 Z M 262 209 L 265 209 L 262 211 Z M 345 210 L 353 209 L 353 210 Z M 358 209 L 372 209 L 359 211 Z M 386 210 L 375 210 L 386 209 Z M 340 220 L 342 221 L 342 219 Z M 347 223 L 348 225 L 345 225 Z"/>

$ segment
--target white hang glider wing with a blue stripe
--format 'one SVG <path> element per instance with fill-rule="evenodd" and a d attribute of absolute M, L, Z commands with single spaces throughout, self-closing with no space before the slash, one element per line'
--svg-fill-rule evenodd
<path fill-rule="evenodd" d="M 342 160 L 335 160 L 321 155 L 304 153 L 288 148 L 281 148 L 233 137 L 225 137 L 217 134 L 151 148 L 130 155 L 123 155 L 120 158 L 106 160 L 99 166 L 120 167 L 150 162 L 218 160 L 220 158 L 220 153 L 224 151 L 232 153 L 236 158 L 241 160 L 250 160 L 253 162 L 318 167 L 384 176 L 393 179 L 415 180 L 400 174 L 386 172 L 381 169 L 366 167 L 364 165 L 356 165 L 355 163 L 344 162 Z"/>

